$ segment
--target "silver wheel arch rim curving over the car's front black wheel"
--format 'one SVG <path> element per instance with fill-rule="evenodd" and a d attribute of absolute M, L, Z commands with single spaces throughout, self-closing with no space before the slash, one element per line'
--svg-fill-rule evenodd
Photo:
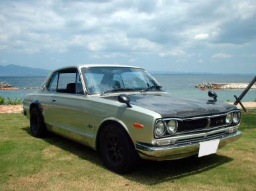
<path fill-rule="evenodd" d="M 109 119 L 105 119 L 101 122 L 98 130 L 97 130 L 97 136 L 96 136 L 96 150 L 99 151 L 99 143 L 100 143 L 100 135 L 102 130 L 108 125 L 108 124 L 117 124 L 118 126 L 120 126 L 120 128 L 123 128 L 125 130 L 125 132 L 127 133 L 128 137 L 130 138 L 130 140 L 132 141 L 132 138 L 130 136 L 130 132 L 126 126 L 126 124 L 124 124 L 122 121 L 118 120 L 118 119 L 114 119 L 114 118 L 109 118 Z"/>

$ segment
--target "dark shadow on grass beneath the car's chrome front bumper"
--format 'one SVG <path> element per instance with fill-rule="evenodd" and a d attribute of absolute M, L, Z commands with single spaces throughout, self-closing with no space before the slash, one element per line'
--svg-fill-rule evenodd
<path fill-rule="evenodd" d="M 214 169 L 230 161 L 233 161 L 233 159 L 218 154 L 200 158 L 193 156 L 173 161 L 142 160 L 140 168 L 137 171 L 124 175 L 124 177 L 140 182 L 140 184 L 154 185 L 161 182 L 172 182 L 179 178 L 210 171 L 210 169 Z"/>

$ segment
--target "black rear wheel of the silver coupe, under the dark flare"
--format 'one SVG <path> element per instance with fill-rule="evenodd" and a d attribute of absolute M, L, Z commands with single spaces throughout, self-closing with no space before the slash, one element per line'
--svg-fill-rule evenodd
<path fill-rule="evenodd" d="M 46 135 L 44 119 L 36 107 L 33 107 L 30 111 L 30 130 L 35 137 L 43 137 Z"/>

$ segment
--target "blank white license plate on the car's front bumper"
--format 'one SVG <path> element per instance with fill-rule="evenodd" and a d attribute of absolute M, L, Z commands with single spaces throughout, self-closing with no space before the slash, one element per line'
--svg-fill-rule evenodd
<path fill-rule="evenodd" d="M 216 153 L 218 150 L 219 143 L 219 139 L 200 142 L 198 157 Z"/>

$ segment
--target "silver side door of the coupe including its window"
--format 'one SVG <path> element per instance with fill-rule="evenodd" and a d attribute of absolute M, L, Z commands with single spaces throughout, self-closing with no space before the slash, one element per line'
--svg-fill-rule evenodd
<path fill-rule="evenodd" d="M 60 70 L 50 106 L 52 130 L 69 138 L 85 141 L 85 95 L 77 68 Z"/>

